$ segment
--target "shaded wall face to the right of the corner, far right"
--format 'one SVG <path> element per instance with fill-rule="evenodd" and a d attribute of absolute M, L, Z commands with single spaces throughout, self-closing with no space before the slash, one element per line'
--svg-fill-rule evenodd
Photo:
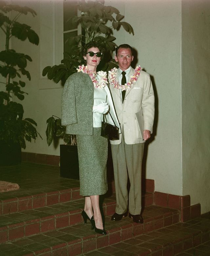
<path fill-rule="evenodd" d="M 182 2 L 183 194 L 210 210 L 210 2 Z"/>

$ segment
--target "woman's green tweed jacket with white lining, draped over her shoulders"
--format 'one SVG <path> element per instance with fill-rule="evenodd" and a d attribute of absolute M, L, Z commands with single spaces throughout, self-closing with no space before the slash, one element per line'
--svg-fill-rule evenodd
<path fill-rule="evenodd" d="M 109 113 L 106 121 L 119 127 L 112 96 L 108 86 L 104 87 L 107 93 Z M 82 72 L 70 75 L 64 85 L 61 98 L 61 124 L 66 126 L 67 134 L 93 135 L 93 104 L 94 85 L 89 75 Z"/>

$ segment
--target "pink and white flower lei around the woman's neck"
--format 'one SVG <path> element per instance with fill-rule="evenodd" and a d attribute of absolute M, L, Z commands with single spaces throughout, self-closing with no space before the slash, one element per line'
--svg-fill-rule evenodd
<path fill-rule="evenodd" d="M 88 74 L 96 88 L 104 88 L 107 84 L 107 77 L 106 72 L 104 71 L 98 71 L 97 74 L 101 77 L 99 81 L 97 81 L 96 74 L 92 73 L 90 70 L 88 70 L 87 66 L 78 66 L 79 68 L 76 69 L 77 72 L 82 72 L 85 74 Z"/>

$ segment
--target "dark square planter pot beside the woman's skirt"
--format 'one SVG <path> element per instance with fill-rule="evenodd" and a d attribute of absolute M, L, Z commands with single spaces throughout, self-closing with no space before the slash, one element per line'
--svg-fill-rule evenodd
<path fill-rule="evenodd" d="M 60 177 L 79 180 L 79 162 L 76 145 L 60 145 Z"/>

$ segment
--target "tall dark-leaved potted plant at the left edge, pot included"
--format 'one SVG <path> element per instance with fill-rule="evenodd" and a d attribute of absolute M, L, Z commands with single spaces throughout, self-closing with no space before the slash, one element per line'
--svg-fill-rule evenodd
<path fill-rule="evenodd" d="M 26 83 L 22 81 L 21 75 L 31 80 L 26 66 L 27 61 L 32 59 L 29 55 L 17 53 L 9 47 L 12 36 L 22 41 L 28 38 L 32 44 L 39 44 L 39 37 L 31 27 L 17 22 L 20 15 L 28 13 L 36 15 L 28 7 L 0 1 L 0 28 L 5 34 L 5 50 L 0 52 L 0 74 L 3 77 L 0 83 L 4 86 L 3 91 L 0 91 L 0 165 L 19 164 L 21 148 L 26 148 L 25 140 L 35 140 L 39 135 L 35 128 L 36 122 L 31 118 L 23 118 L 23 106 L 14 102 L 15 97 L 23 100 L 24 94 L 27 94 L 22 91 Z"/>

